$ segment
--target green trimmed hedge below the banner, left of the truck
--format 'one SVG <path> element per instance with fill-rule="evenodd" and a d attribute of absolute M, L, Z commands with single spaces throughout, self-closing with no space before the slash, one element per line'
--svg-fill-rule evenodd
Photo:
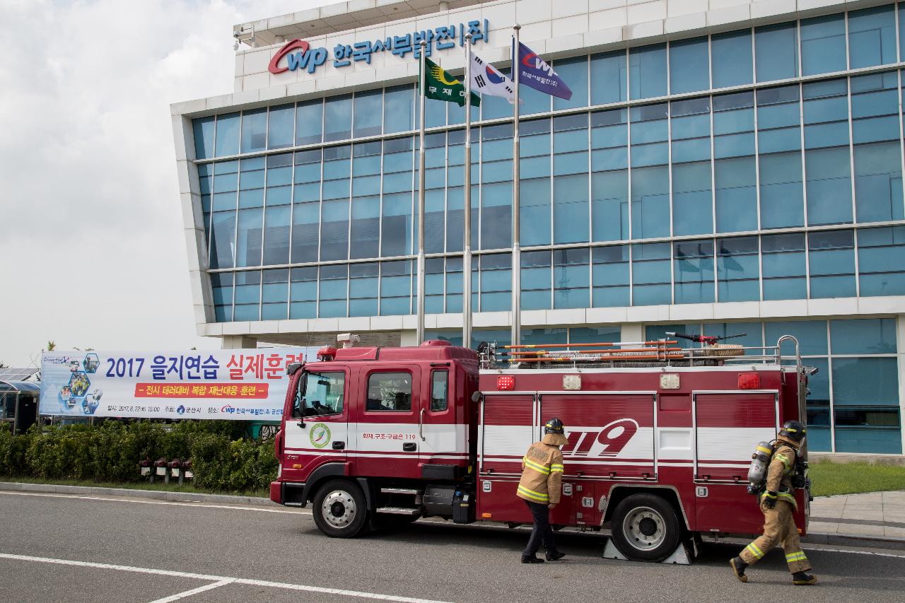
<path fill-rule="evenodd" d="M 276 476 L 273 440 L 244 437 L 240 421 L 105 421 L 96 426 L 33 426 L 13 436 L 0 426 L 0 475 L 95 482 L 139 482 L 138 461 L 191 459 L 195 485 L 261 490 Z"/>

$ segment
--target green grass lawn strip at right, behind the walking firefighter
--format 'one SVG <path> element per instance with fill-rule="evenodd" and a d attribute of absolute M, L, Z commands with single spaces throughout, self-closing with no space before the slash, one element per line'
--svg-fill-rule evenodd
<path fill-rule="evenodd" d="M 820 461 L 808 467 L 814 496 L 905 490 L 905 465 L 833 463 Z"/>

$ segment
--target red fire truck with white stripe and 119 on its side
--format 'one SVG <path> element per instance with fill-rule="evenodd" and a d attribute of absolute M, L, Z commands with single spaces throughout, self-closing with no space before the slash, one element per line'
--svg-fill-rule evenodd
<path fill-rule="evenodd" d="M 814 369 L 790 336 L 763 349 L 675 343 L 321 349 L 289 368 L 271 500 L 312 503 L 332 537 L 430 516 L 530 523 L 522 455 L 558 416 L 568 444 L 553 524 L 610 522 L 625 557 L 653 561 L 692 536 L 757 533 L 751 452 L 805 421 Z M 804 532 L 809 493 L 796 496 Z"/>

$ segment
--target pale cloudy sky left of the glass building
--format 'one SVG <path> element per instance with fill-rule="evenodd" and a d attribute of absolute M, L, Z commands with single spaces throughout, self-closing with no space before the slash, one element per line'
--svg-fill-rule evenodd
<path fill-rule="evenodd" d="M 331 0 L 0 0 L 0 362 L 195 334 L 171 102 L 233 91 L 233 24 Z"/>

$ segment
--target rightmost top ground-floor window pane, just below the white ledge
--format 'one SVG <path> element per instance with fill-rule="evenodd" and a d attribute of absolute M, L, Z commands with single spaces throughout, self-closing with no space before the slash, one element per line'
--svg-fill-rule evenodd
<path fill-rule="evenodd" d="M 899 406 L 899 370 L 894 358 L 834 358 L 833 400 L 843 405 Z M 870 378 L 864 378 L 870 375 Z"/>

